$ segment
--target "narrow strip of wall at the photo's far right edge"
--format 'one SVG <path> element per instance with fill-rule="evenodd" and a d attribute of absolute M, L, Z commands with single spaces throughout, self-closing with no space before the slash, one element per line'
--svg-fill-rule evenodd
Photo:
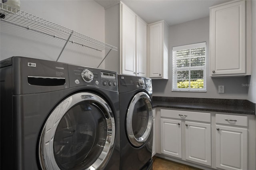
<path fill-rule="evenodd" d="M 252 0 L 252 75 L 248 78 L 248 100 L 256 103 L 256 1 Z"/>

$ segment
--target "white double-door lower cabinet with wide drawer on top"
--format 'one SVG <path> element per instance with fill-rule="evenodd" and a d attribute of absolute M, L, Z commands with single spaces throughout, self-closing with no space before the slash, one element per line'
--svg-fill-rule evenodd
<path fill-rule="evenodd" d="M 210 113 L 161 109 L 161 152 L 211 166 L 210 120 Z"/>

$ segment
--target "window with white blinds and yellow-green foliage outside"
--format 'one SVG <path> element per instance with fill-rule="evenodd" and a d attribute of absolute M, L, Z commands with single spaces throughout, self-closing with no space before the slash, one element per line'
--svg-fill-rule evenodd
<path fill-rule="evenodd" d="M 172 91 L 206 91 L 206 43 L 172 48 Z"/>

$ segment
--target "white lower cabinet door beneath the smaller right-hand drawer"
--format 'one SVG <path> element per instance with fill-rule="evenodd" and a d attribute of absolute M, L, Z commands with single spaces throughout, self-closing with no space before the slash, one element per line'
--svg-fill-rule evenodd
<path fill-rule="evenodd" d="M 247 131 L 246 128 L 216 125 L 217 168 L 225 170 L 248 170 Z"/>

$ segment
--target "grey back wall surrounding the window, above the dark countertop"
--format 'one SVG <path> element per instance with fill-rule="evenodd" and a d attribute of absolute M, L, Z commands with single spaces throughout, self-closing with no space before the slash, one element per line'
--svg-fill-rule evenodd
<path fill-rule="evenodd" d="M 153 95 L 165 97 L 200 97 L 221 99 L 247 99 L 247 77 L 211 78 L 209 76 L 209 17 L 169 27 L 169 79 L 153 80 Z M 172 92 L 172 47 L 206 42 L 207 92 Z M 218 93 L 218 85 L 225 86 L 225 93 Z"/>

